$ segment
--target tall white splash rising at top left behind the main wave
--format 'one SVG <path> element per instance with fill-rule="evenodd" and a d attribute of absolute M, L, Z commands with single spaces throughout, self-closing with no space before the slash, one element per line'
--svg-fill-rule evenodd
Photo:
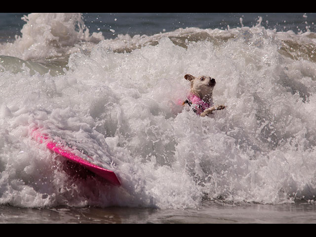
<path fill-rule="evenodd" d="M 80 13 L 31 13 L 22 19 L 26 22 L 22 36 L 0 45 L 1 55 L 23 60 L 53 58 L 79 51 L 76 45 L 104 40 L 101 33 L 89 34 Z"/>

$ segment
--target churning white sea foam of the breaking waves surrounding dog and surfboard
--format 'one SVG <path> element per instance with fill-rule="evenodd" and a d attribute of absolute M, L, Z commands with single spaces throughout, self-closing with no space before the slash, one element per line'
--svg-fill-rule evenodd
<path fill-rule="evenodd" d="M 62 75 L 25 63 L 0 68 L 0 203 L 186 208 L 206 194 L 314 198 L 314 33 L 258 25 L 94 41 L 75 29 L 79 15 L 49 17 L 29 15 L 22 38 L 0 47 L 23 60 L 69 55 Z M 56 33 L 53 25 L 65 28 Z M 90 44 L 76 45 L 82 39 Z M 172 113 L 170 101 L 188 92 L 187 73 L 215 78 L 214 102 L 227 109 L 211 118 Z M 30 138 L 33 126 L 80 143 L 122 187 L 70 178 L 62 159 Z"/>

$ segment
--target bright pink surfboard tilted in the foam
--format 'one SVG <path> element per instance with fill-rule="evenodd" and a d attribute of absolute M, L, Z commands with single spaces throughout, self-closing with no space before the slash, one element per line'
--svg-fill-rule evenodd
<path fill-rule="evenodd" d="M 120 186 L 120 182 L 118 180 L 118 177 L 116 174 L 108 169 L 102 168 L 100 166 L 97 166 L 95 164 L 90 163 L 84 158 L 81 158 L 77 155 L 75 155 L 72 151 L 75 151 L 74 149 L 68 147 L 68 146 L 63 146 L 61 144 L 58 144 L 53 141 L 53 139 L 49 138 L 48 136 L 41 134 L 38 129 L 35 129 L 32 131 L 32 136 L 33 138 L 40 143 L 46 144 L 46 147 L 52 151 L 55 152 L 56 154 L 67 158 L 68 160 L 71 160 L 86 169 L 90 170 L 91 172 L 101 176 L 102 178 L 106 179 L 110 183 Z M 89 157 L 90 159 L 93 160 L 93 158 Z"/>

